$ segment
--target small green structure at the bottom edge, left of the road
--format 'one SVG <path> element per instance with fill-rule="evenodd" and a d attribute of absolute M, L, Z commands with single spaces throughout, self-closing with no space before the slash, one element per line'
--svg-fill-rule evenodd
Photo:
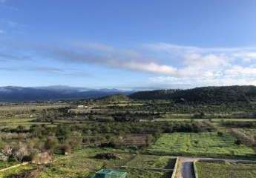
<path fill-rule="evenodd" d="M 127 172 L 112 169 L 102 169 L 93 178 L 128 178 Z"/>

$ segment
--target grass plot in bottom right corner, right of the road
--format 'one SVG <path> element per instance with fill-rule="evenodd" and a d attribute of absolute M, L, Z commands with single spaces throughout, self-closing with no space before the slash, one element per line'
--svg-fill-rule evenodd
<path fill-rule="evenodd" d="M 197 162 L 199 178 L 255 178 L 256 165 L 242 163 Z"/>

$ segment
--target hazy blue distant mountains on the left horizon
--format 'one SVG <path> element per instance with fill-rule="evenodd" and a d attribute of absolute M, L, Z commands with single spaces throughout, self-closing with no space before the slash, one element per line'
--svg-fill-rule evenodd
<path fill-rule="evenodd" d="M 131 91 L 117 89 L 73 88 L 56 85 L 49 87 L 0 87 L 0 102 L 30 102 L 61 99 L 91 99 L 114 94 L 131 94 Z"/>

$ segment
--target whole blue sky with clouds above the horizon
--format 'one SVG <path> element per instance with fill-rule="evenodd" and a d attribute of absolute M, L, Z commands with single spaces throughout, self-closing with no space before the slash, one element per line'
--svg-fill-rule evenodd
<path fill-rule="evenodd" d="M 0 0 L 0 86 L 256 85 L 255 0 Z"/>

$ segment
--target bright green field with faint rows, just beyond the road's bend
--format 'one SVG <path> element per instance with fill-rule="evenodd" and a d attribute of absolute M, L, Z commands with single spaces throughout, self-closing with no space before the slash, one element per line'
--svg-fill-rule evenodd
<path fill-rule="evenodd" d="M 148 148 L 151 154 L 190 156 L 254 156 L 246 145 L 235 145 L 231 135 L 218 136 L 215 132 L 164 133 Z"/>

